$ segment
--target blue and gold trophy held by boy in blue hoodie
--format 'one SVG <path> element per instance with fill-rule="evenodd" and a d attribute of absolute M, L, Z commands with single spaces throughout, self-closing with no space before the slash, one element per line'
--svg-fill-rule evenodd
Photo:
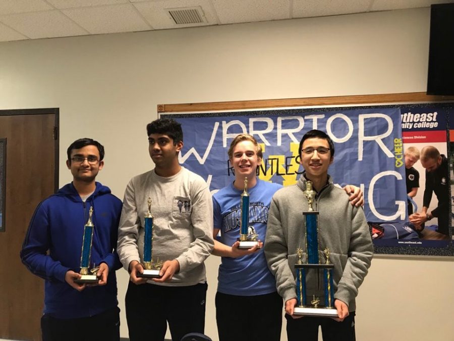
<path fill-rule="evenodd" d="M 96 273 L 99 270 L 99 267 L 94 266 L 90 269 L 90 258 L 91 258 L 91 244 L 93 241 L 93 231 L 94 225 L 91 221 L 93 215 L 93 207 L 90 207 L 88 212 L 88 221 L 84 226 L 84 237 L 82 240 L 82 254 L 80 257 L 80 274 L 82 275 L 79 279 L 75 279 L 75 283 L 83 284 L 96 284 L 98 282 L 98 277 Z"/>

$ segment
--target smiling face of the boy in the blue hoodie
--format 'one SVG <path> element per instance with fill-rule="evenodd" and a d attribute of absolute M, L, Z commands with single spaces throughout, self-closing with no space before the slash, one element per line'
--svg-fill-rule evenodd
<path fill-rule="evenodd" d="M 74 158 L 84 160 L 80 162 L 73 160 Z M 71 160 L 67 160 L 66 165 L 71 170 L 75 181 L 92 182 L 104 166 L 104 161 L 99 161 L 99 158 L 98 148 L 90 144 L 80 149 L 73 149 L 71 151 Z M 98 161 L 94 162 L 94 159 Z"/>

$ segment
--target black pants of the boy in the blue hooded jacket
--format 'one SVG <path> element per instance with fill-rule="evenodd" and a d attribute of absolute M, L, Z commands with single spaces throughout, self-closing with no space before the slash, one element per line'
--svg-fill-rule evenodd
<path fill-rule="evenodd" d="M 76 319 L 41 317 L 42 341 L 120 340 L 120 309 Z"/>

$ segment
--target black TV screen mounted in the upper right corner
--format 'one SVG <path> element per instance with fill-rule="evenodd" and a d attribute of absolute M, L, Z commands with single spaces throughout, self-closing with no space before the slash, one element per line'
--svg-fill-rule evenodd
<path fill-rule="evenodd" d="M 430 8 L 427 94 L 454 95 L 454 4 Z"/>

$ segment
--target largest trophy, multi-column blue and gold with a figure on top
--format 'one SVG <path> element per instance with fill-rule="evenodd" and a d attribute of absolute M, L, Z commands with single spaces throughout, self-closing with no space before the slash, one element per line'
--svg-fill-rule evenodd
<path fill-rule="evenodd" d="M 315 198 L 315 190 L 312 189 L 312 182 L 306 181 L 306 196 L 309 210 L 303 212 L 304 225 L 306 228 L 306 262 L 303 261 L 303 250 L 297 249 L 298 261 L 295 264 L 296 272 L 296 289 L 297 289 L 297 305 L 295 306 L 295 315 L 307 316 L 326 316 L 337 317 L 337 310 L 334 308 L 334 284 L 333 284 L 333 270 L 334 265 L 329 262 L 329 249 L 326 248 L 323 253 L 325 255 L 325 262 L 322 264 L 318 249 L 318 211 L 314 211 L 313 203 Z M 323 271 L 321 271 L 323 270 Z M 312 296 L 310 304 L 307 298 L 307 283 L 306 275 L 309 271 L 316 272 L 317 278 L 317 295 Z M 318 294 L 320 272 L 322 273 L 323 288 L 324 288 L 324 304 L 320 303 Z"/>

